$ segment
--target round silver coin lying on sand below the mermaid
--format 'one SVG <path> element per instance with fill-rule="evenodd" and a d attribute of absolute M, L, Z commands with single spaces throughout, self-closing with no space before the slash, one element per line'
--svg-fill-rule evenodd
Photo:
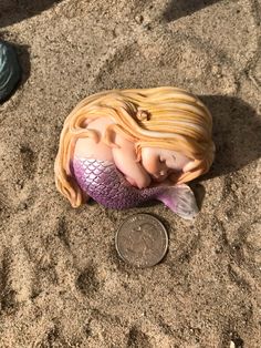
<path fill-rule="evenodd" d="M 168 234 L 164 225 L 149 214 L 126 218 L 115 237 L 116 250 L 126 263 L 146 268 L 158 264 L 168 248 Z"/>

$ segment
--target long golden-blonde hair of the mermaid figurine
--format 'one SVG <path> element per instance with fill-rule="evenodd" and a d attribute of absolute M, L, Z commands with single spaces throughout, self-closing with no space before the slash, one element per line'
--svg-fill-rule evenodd
<path fill-rule="evenodd" d="M 73 207 L 84 202 L 71 168 L 75 143 L 81 137 L 97 141 L 96 132 L 86 126 L 92 120 L 104 116 L 113 121 L 103 137 L 108 146 L 115 146 L 113 134 L 116 132 L 134 142 L 138 160 L 142 149 L 147 146 L 174 150 L 194 160 L 194 167 L 180 175 L 177 183 L 208 172 L 213 161 L 212 119 L 195 95 L 170 86 L 96 93 L 70 113 L 60 136 L 55 183 Z"/>

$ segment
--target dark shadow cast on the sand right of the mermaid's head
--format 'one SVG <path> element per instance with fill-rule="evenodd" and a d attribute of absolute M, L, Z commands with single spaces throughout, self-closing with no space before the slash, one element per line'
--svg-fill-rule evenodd
<path fill-rule="evenodd" d="M 213 117 L 216 158 L 205 178 L 233 173 L 261 156 L 261 120 L 237 98 L 199 96 Z"/>

